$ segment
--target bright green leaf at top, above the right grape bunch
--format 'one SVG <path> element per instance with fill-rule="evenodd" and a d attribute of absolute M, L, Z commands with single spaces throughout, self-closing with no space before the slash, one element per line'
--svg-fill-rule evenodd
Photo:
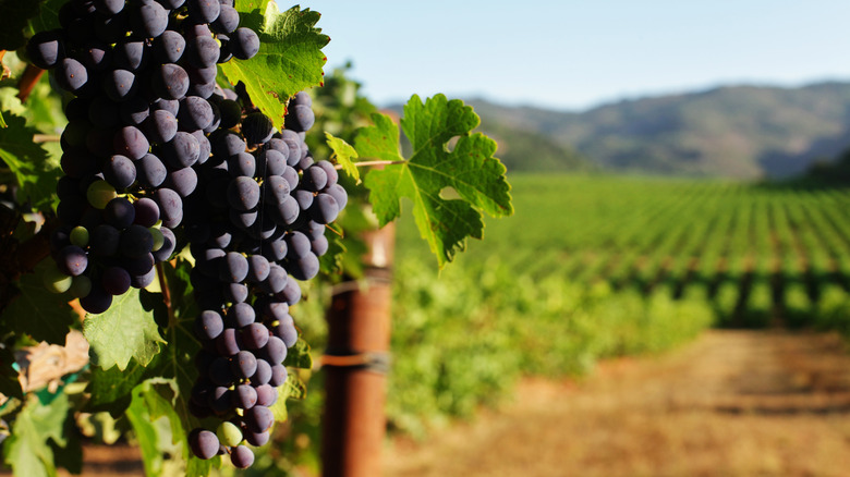
<path fill-rule="evenodd" d="M 230 83 L 244 83 L 254 105 L 282 130 L 289 98 L 321 85 L 327 61 L 321 48 L 330 38 L 315 27 L 320 15 L 309 9 L 295 5 L 279 13 L 277 3 L 267 0 L 238 1 L 235 8 L 243 15 L 242 26 L 259 35 L 259 52 L 251 60 L 232 59 L 221 71 Z"/>

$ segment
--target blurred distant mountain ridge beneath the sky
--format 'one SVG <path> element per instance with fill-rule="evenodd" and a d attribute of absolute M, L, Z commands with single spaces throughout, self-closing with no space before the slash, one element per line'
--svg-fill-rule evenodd
<path fill-rule="evenodd" d="M 850 146 L 850 83 L 722 86 L 583 112 L 466 102 L 509 171 L 788 176 Z"/>

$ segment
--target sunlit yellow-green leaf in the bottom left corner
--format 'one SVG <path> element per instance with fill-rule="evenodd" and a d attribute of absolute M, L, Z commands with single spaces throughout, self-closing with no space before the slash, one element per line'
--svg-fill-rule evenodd
<path fill-rule="evenodd" d="M 64 448 L 65 417 L 70 409 L 68 394 L 61 393 L 50 404 L 42 405 L 35 395 L 15 417 L 12 435 L 3 443 L 3 457 L 14 475 L 27 477 L 56 476 L 53 450 L 48 440 Z"/>

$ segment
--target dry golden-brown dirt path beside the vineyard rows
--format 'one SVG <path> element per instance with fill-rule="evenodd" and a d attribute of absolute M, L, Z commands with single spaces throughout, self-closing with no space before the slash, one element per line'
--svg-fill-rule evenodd
<path fill-rule="evenodd" d="M 712 331 L 501 412 L 398 441 L 386 477 L 849 476 L 850 353 L 834 335 Z"/>

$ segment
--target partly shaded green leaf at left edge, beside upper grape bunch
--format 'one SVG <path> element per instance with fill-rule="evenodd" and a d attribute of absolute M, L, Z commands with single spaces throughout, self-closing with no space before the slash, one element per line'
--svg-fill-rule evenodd
<path fill-rule="evenodd" d="M 19 115 L 9 114 L 9 127 L 0 129 L 0 159 L 15 174 L 22 191 L 20 200 L 28 199 L 38 209 L 48 207 L 56 194 L 56 183 L 62 175 L 47 150 L 33 142 L 38 133 Z"/>

